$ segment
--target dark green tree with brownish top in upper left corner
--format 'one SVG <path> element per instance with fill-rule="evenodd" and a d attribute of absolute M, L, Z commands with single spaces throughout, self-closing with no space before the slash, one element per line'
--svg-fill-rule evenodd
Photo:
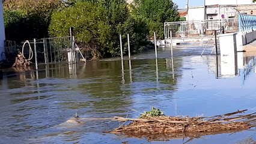
<path fill-rule="evenodd" d="M 48 37 L 53 11 L 63 7 L 59 0 L 5 0 L 4 21 L 7 40 Z"/>

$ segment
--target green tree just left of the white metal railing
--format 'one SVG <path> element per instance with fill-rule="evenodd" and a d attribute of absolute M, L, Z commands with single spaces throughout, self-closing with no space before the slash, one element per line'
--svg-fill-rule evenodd
<path fill-rule="evenodd" d="M 177 5 L 171 0 L 135 0 L 132 5 L 132 14 L 147 23 L 151 38 L 154 32 L 157 38 L 164 37 L 163 23 L 178 21 L 177 10 Z"/>

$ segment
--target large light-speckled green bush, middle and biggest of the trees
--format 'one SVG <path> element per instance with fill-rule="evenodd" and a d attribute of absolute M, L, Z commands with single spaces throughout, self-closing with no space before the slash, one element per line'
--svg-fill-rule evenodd
<path fill-rule="evenodd" d="M 123 0 L 78 1 L 72 7 L 53 13 L 49 27 L 51 36 L 69 35 L 70 27 L 74 28 L 77 41 L 89 43 L 102 57 L 120 55 L 119 34 L 124 38 L 127 33 L 131 35 L 133 52 L 147 43 L 146 25 L 130 17 Z"/>

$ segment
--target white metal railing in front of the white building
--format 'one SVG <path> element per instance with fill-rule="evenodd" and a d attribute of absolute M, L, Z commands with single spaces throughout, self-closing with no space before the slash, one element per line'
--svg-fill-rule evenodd
<path fill-rule="evenodd" d="M 236 32 L 239 29 L 238 19 L 164 23 L 165 40 L 171 39 L 171 33 L 172 38 L 211 36 L 216 29 L 224 29 L 225 32 Z"/>

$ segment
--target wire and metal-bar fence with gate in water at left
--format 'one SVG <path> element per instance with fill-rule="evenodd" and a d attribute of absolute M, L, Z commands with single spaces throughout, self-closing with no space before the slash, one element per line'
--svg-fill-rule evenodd
<path fill-rule="evenodd" d="M 81 49 L 75 43 L 75 37 L 52 37 L 31 40 L 29 44 L 17 45 L 8 41 L 5 43 L 7 61 L 15 61 L 17 54 L 22 53 L 26 59 L 33 55 L 31 62 L 37 67 L 38 63 L 49 64 L 50 62 L 67 62 L 69 64 L 78 61 L 86 62 Z"/>

